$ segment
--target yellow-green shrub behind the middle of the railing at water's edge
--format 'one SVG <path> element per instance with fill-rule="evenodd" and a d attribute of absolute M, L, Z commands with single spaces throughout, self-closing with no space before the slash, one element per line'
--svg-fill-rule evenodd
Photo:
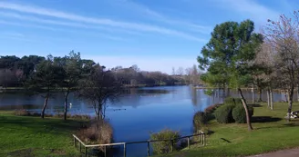
<path fill-rule="evenodd" d="M 174 132 L 169 129 L 164 129 L 161 132 L 150 134 L 150 140 L 170 140 L 177 139 L 180 137 L 179 132 Z M 178 149 L 179 140 L 173 140 L 173 150 Z M 162 142 L 152 142 L 153 152 L 156 154 L 163 154 L 171 152 L 171 142 L 162 141 Z"/>

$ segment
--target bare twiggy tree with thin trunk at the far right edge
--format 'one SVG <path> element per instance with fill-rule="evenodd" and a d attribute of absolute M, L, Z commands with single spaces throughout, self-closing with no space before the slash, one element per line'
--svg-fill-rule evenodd
<path fill-rule="evenodd" d="M 294 18 L 280 15 L 277 22 L 268 20 L 264 36 L 275 49 L 275 67 L 288 93 L 288 120 L 291 118 L 294 88 L 298 83 L 299 72 L 299 13 Z"/>

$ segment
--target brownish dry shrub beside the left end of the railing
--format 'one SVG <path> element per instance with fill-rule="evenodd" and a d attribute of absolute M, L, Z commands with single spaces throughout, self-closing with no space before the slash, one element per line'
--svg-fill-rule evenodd
<path fill-rule="evenodd" d="M 112 142 L 113 130 L 108 122 L 99 120 L 93 121 L 87 128 L 79 130 L 77 136 L 86 143 L 106 144 Z"/>

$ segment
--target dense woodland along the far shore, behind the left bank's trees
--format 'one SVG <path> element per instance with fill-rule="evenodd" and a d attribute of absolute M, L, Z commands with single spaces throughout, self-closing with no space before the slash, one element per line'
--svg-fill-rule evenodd
<path fill-rule="evenodd" d="M 19 58 L 15 55 L 0 56 L 0 86 L 3 87 L 23 87 L 30 79 L 32 74 L 36 73 L 36 67 L 43 62 L 51 62 L 62 68 L 66 68 L 69 61 L 77 57 L 77 70 L 85 71 L 88 74 L 88 68 L 96 67 L 96 63 L 92 60 L 81 59 L 79 53 L 71 52 L 64 57 L 48 55 L 28 55 Z M 99 65 L 99 64 L 98 64 Z M 64 69 L 66 71 L 66 69 Z M 75 69 L 74 69 L 75 70 Z M 121 79 L 125 86 L 155 86 L 155 85 L 173 85 L 175 83 L 198 84 L 200 83 L 200 71 L 196 65 L 178 70 L 172 69 L 172 74 L 164 74 L 159 71 L 147 72 L 141 71 L 137 65 L 130 67 L 116 66 L 107 71 Z M 63 78 L 61 78 L 63 79 Z"/>

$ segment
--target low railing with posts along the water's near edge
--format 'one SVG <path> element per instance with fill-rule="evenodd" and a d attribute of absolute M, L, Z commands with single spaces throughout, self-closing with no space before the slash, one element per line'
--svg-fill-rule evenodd
<path fill-rule="evenodd" d="M 107 156 L 107 147 L 108 146 L 116 146 L 116 145 L 123 145 L 123 156 L 126 157 L 127 153 L 127 148 L 126 145 L 129 144 L 136 144 L 136 143 L 148 143 L 148 156 L 150 155 L 150 151 L 149 151 L 149 144 L 150 142 L 171 142 L 171 152 L 173 152 L 173 147 L 174 147 L 174 141 L 180 140 L 180 139 L 187 139 L 187 147 L 188 149 L 190 149 L 190 145 L 191 145 L 191 137 L 195 137 L 195 136 L 200 136 L 200 144 L 201 146 L 205 146 L 206 145 L 206 135 L 204 132 L 200 132 L 197 134 L 192 134 L 192 135 L 188 135 L 188 136 L 182 136 L 180 138 L 177 139 L 165 139 L 165 140 L 148 140 L 148 141 L 141 141 L 141 142 L 115 142 L 115 143 L 108 143 L 108 144 L 92 144 L 92 145 L 88 145 L 85 144 L 84 142 L 82 142 L 75 134 L 73 134 L 74 137 L 74 145 L 77 148 L 77 143 L 78 143 L 78 147 L 80 150 L 80 153 L 82 153 L 82 146 L 84 146 L 85 149 L 85 156 L 88 156 L 88 148 L 92 148 L 92 147 L 104 147 L 104 156 Z"/>

